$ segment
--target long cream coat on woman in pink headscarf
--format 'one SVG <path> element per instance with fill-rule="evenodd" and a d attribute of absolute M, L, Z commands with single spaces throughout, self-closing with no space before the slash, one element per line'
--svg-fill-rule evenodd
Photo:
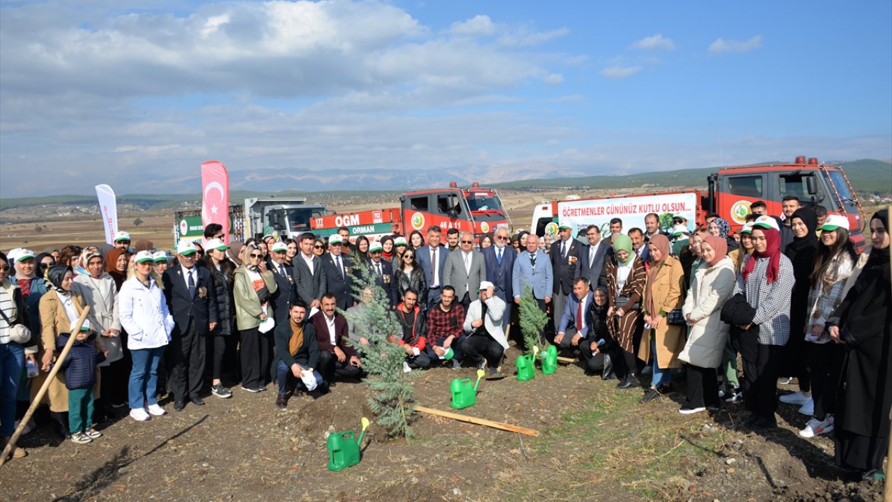
<path fill-rule="evenodd" d="M 713 266 L 704 262 L 694 272 L 681 314 L 696 324 L 690 328 L 688 343 L 678 356 L 681 361 L 700 368 L 717 368 L 722 364 L 728 341 L 728 324 L 722 322 L 722 305 L 734 292 L 736 281 L 734 262 L 728 256 Z"/>

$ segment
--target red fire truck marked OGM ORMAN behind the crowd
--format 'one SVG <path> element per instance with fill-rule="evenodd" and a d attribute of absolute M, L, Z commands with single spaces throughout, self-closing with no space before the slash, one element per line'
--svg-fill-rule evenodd
<path fill-rule="evenodd" d="M 450 188 L 406 192 L 400 197 L 400 207 L 318 216 L 310 220 L 310 229 L 328 236 L 347 227 L 351 235 L 368 238 L 408 236 L 412 230 L 420 230 L 426 238 L 427 229 L 437 225 L 443 232 L 458 229 L 479 238 L 501 223 L 509 224 L 510 219 L 495 189 L 481 188 L 479 183 L 459 188 L 452 182 Z"/>

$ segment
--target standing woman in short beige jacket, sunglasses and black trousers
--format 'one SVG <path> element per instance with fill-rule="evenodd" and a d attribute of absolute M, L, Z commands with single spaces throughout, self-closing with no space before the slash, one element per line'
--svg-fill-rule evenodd
<path fill-rule="evenodd" d="M 273 314 L 269 296 L 276 289 L 276 278 L 266 269 L 260 246 L 245 246 L 243 265 L 233 272 L 233 297 L 241 337 L 242 389 L 249 392 L 265 390 L 269 380 L 272 332 L 261 333 L 259 328 Z"/>

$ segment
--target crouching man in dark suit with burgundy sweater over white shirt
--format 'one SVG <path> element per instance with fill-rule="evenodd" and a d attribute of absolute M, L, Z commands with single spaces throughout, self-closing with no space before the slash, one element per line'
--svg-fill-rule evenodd
<path fill-rule="evenodd" d="M 335 310 L 337 298 L 326 293 L 322 296 L 322 308 L 310 317 L 310 324 L 316 331 L 319 344 L 319 373 L 325 381 L 321 391 L 335 384 L 335 377 L 340 379 L 359 379 L 362 377 L 362 364 L 352 347 L 347 345 L 347 319 Z"/>

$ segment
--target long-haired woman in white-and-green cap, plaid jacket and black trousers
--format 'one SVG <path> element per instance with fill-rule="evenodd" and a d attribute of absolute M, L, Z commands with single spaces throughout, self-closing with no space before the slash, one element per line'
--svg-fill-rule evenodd
<path fill-rule="evenodd" d="M 833 407 L 845 349 L 833 343 L 824 324 L 845 297 L 846 283 L 852 276 L 857 259 L 855 247 L 848 239 L 848 219 L 845 216 L 831 215 L 821 230 L 821 244 L 810 278 L 812 288 L 808 291 L 808 320 L 805 322 L 814 413 L 805 428 L 799 431 L 804 438 L 833 431 Z M 869 253 L 867 250 L 864 252 Z M 794 334 L 791 332 L 790 336 Z"/>

